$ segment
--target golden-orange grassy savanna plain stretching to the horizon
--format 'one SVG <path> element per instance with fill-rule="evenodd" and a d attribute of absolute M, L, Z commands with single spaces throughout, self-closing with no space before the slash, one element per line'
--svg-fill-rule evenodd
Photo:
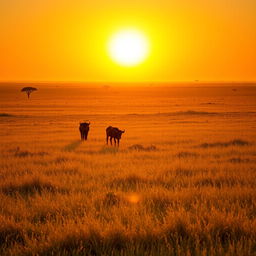
<path fill-rule="evenodd" d="M 255 85 L 24 86 L 0 86 L 0 255 L 256 255 Z"/>

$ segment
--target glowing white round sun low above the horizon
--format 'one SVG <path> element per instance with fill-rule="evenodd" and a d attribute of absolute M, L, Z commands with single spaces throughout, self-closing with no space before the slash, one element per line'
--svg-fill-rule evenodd
<path fill-rule="evenodd" d="M 121 30 L 110 38 L 108 52 L 116 63 L 122 66 L 136 66 L 148 56 L 149 42 L 138 30 Z"/>

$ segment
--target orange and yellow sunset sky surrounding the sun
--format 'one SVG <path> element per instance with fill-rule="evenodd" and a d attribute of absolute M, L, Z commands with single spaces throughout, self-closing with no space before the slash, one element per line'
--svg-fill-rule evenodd
<path fill-rule="evenodd" d="M 255 81 L 255 0 L 0 0 L 1 81 Z M 143 31 L 121 67 L 107 42 Z"/>

